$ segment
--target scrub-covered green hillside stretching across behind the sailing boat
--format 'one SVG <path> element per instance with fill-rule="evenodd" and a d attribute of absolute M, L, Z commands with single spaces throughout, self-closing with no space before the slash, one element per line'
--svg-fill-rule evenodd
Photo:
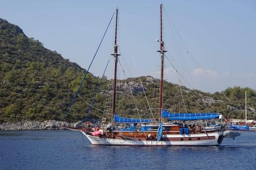
<path fill-rule="evenodd" d="M 17 25 L 0 19 L 1 122 L 84 119 L 89 108 L 86 102 L 92 101 L 100 82 L 100 78 L 90 73 L 82 86 L 80 97 L 64 117 L 84 71 L 76 63 L 44 48 L 40 41 L 28 38 Z M 154 104 L 157 107 L 159 80 L 151 76 L 142 76 L 141 80 L 143 87 L 138 83 L 139 78 L 119 81 L 119 113 L 134 116 L 139 110 L 142 114 L 148 114 L 150 111 L 143 90 L 153 110 Z M 111 90 L 105 90 L 111 87 L 111 82 L 104 78 L 96 96 L 94 107 L 102 111 L 106 109 L 105 99 L 111 95 Z M 233 118 L 244 117 L 244 94 L 247 91 L 248 118 L 256 119 L 256 92 L 250 88 L 233 87 L 209 94 L 164 82 L 164 89 L 163 108 L 173 112 L 218 112 Z M 100 110 L 93 109 L 90 118 L 101 118 L 97 116 Z M 156 111 L 152 112 L 155 114 Z"/>

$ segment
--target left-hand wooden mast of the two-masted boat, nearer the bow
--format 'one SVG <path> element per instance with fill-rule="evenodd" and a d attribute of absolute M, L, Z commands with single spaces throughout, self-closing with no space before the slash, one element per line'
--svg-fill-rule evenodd
<path fill-rule="evenodd" d="M 115 16 L 115 40 L 114 40 L 114 53 L 111 54 L 114 56 L 114 82 L 113 82 L 113 94 L 112 94 L 112 112 L 111 112 L 111 123 L 113 125 L 114 123 L 114 114 L 115 114 L 115 92 L 117 91 L 117 61 L 118 61 L 118 46 L 117 46 L 117 20 L 118 20 L 118 8 L 115 10 L 116 16 Z"/>

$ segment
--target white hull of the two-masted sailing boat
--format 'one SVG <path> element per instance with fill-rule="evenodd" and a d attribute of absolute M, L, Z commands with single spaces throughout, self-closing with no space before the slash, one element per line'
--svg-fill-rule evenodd
<path fill-rule="evenodd" d="M 81 131 L 93 145 L 119 145 L 119 146 L 218 146 L 223 139 L 223 131 L 201 134 L 168 134 L 163 135 L 161 141 L 157 140 L 136 140 L 136 139 L 113 139 L 96 137 Z M 179 141 L 174 141 L 174 139 Z M 199 140 L 189 141 L 189 138 L 197 138 Z M 184 141 L 182 141 L 184 139 Z M 187 140 L 185 140 L 187 139 Z"/>

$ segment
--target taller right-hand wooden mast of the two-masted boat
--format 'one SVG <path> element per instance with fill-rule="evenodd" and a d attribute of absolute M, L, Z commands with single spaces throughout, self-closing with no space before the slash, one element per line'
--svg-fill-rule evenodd
<path fill-rule="evenodd" d="M 163 42 L 163 16 L 162 16 L 163 4 L 160 3 L 160 50 L 157 52 L 160 53 L 161 59 L 161 73 L 160 73 L 160 99 L 159 99 L 159 121 L 162 122 L 162 103 L 163 103 L 163 66 L 164 66 L 164 53 L 167 52 L 164 50 Z"/>

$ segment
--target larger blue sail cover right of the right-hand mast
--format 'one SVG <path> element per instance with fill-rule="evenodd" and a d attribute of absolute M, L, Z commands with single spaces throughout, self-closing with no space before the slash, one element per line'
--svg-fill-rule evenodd
<path fill-rule="evenodd" d="M 204 120 L 218 118 L 218 113 L 170 113 L 162 109 L 162 117 L 168 120 Z"/>

